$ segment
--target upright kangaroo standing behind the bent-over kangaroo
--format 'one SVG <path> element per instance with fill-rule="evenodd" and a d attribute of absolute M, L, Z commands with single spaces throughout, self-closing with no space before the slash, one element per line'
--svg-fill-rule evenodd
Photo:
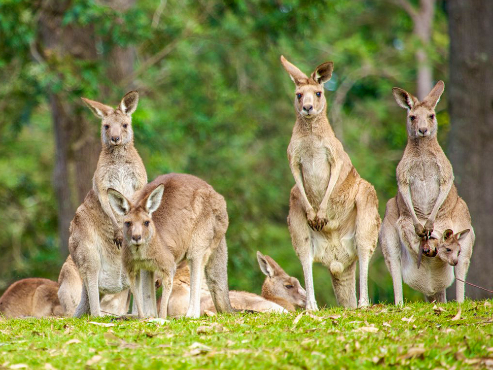
<path fill-rule="evenodd" d="M 127 93 L 116 109 L 97 101 L 82 100 L 102 119 L 102 150 L 93 177 L 93 189 L 70 223 L 70 255 L 83 283 L 75 317 L 85 313 L 100 316 L 100 297 L 129 288 L 120 254 L 122 221 L 111 210 L 107 189 L 117 189 L 130 198 L 147 183 L 132 131 L 131 117 L 137 108 L 139 93 Z"/>

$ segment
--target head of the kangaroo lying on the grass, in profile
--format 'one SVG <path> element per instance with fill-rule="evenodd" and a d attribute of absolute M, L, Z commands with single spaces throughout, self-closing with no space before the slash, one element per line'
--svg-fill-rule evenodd
<path fill-rule="evenodd" d="M 306 306 L 307 292 L 297 278 L 289 276 L 276 261 L 258 251 L 257 260 L 260 269 L 267 276 L 262 286 L 262 294 L 280 297 L 298 307 Z"/>

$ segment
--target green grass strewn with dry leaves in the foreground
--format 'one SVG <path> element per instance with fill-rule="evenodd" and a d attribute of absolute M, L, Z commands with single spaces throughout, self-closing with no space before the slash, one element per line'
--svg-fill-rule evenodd
<path fill-rule="evenodd" d="M 458 308 L 377 304 L 164 323 L 2 319 L 0 369 L 492 369 L 493 302 Z"/>

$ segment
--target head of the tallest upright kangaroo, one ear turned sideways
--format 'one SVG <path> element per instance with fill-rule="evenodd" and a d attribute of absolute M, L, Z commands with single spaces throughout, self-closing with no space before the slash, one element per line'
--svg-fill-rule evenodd
<path fill-rule="evenodd" d="M 320 113 L 325 114 L 327 102 L 323 95 L 323 84 L 330 80 L 334 64 L 325 62 L 315 68 L 308 77 L 298 67 L 281 56 L 281 63 L 296 85 L 294 107 L 302 118 L 311 119 Z"/>

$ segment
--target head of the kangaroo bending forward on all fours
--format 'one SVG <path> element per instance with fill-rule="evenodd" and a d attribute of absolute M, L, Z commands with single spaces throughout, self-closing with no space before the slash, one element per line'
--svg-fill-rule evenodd
<path fill-rule="evenodd" d="M 123 217 L 126 245 L 139 249 L 141 244 L 148 243 L 156 232 L 152 213 L 161 204 L 164 185 L 158 185 L 150 194 L 131 203 L 123 194 L 108 189 L 108 199 L 113 211 Z"/>

